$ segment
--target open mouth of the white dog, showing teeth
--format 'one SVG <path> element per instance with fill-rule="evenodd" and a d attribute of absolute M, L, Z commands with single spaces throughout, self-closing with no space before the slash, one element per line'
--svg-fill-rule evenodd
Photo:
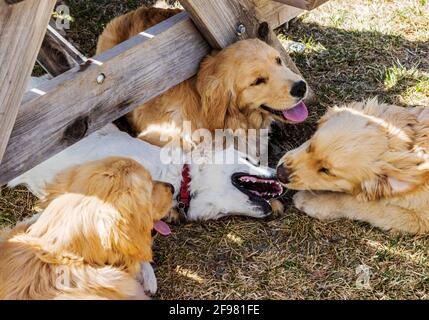
<path fill-rule="evenodd" d="M 250 200 L 260 202 L 271 200 L 283 194 L 282 185 L 274 178 L 254 176 L 237 172 L 231 177 L 232 184 L 241 192 L 248 195 Z"/>

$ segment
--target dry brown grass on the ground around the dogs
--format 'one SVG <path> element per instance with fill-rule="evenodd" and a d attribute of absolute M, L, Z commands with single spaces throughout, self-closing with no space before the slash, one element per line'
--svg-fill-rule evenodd
<path fill-rule="evenodd" d="M 105 24 L 143 2 L 65 1 L 74 19 L 68 36 L 91 55 Z M 311 135 L 328 106 L 375 95 L 402 106 L 429 106 L 427 1 L 331 0 L 290 23 L 279 38 L 317 104 L 307 123 L 274 127 L 273 164 Z M 293 50 L 294 43 L 305 49 Z M 30 215 L 33 204 L 25 189 L 3 188 L 0 224 Z M 429 298 L 428 236 L 392 235 L 348 220 L 321 222 L 287 205 L 272 221 L 228 218 L 173 226 L 172 236 L 156 237 L 156 298 Z M 370 270 L 363 289 L 356 283 L 360 266 Z"/>

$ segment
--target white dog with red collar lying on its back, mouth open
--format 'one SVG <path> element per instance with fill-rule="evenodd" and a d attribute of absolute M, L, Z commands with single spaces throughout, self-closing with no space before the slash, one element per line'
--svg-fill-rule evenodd
<path fill-rule="evenodd" d="M 263 218 L 274 210 L 281 210 L 279 197 L 283 189 L 274 179 L 274 170 L 261 168 L 234 153 L 234 164 L 190 164 L 189 204 L 187 220 L 217 219 L 226 215 L 245 215 Z M 9 183 L 10 187 L 26 185 L 41 198 L 46 183 L 57 173 L 74 165 L 109 156 L 132 158 L 152 174 L 154 180 L 171 183 L 175 199 L 183 188 L 183 164 L 164 164 L 161 149 L 132 138 L 113 124 L 91 134 L 51 159 L 39 164 Z M 273 204 L 273 206 L 272 206 Z"/>

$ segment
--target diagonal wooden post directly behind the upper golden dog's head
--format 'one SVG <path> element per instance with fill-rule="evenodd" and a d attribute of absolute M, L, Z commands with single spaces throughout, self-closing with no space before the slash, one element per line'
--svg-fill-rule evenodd
<path fill-rule="evenodd" d="M 268 22 L 258 20 L 250 0 L 181 0 L 180 3 L 212 47 L 221 49 L 237 40 L 260 38 L 277 49 L 287 66 L 300 74 Z M 240 25 L 245 27 L 241 32 Z"/>

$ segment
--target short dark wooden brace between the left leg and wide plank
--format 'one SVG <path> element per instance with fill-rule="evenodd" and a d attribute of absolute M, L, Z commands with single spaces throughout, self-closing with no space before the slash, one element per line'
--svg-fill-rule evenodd
<path fill-rule="evenodd" d="M 52 77 L 56 77 L 84 62 L 86 58 L 56 29 L 51 21 L 42 42 L 37 62 Z"/>

